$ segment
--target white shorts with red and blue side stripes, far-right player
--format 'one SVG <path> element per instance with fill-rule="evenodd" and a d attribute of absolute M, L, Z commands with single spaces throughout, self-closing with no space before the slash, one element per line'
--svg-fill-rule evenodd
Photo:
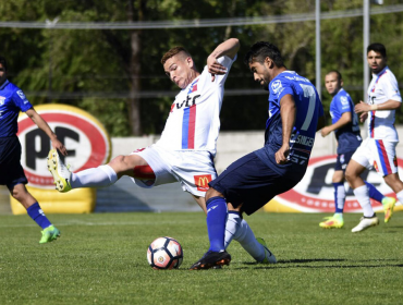
<path fill-rule="evenodd" d="M 386 176 L 398 172 L 398 142 L 366 138 L 355 150 L 352 159 L 367 169 L 375 170 Z"/>

